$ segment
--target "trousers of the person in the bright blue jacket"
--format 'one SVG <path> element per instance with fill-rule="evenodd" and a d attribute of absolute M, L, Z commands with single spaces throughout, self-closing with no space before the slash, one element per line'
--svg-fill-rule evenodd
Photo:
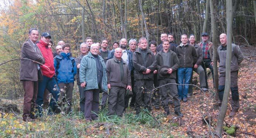
<path fill-rule="evenodd" d="M 74 82 L 70 83 L 59 83 L 59 89 L 61 90 L 61 100 L 63 104 L 66 104 L 64 111 L 66 113 L 71 112 L 71 106 L 72 106 L 72 95 L 73 95 L 73 89 L 74 89 Z"/>

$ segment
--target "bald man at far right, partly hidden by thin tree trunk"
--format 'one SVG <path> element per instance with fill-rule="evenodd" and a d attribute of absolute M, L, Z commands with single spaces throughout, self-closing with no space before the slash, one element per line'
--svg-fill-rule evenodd
<path fill-rule="evenodd" d="M 217 49 L 217 60 L 219 62 L 219 99 L 222 102 L 224 89 L 225 89 L 225 78 L 226 78 L 226 54 L 227 54 L 227 35 L 222 33 L 219 36 L 221 45 Z M 231 107 L 232 111 L 229 114 L 230 117 L 235 116 L 239 109 L 239 93 L 238 93 L 238 66 L 243 61 L 243 54 L 239 47 L 232 44 L 232 55 L 231 55 Z M 220 105 L 221 106 L 221 105 Z"/>

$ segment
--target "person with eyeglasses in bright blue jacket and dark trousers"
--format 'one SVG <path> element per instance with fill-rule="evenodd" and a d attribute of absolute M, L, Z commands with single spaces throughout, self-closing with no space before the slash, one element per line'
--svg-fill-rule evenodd
<path fill-rule="evenodd" d="M 70 55 L 71 46 L 65 44 L 62 46 L 63 52 L 54 58 L 55 72 L 58 78 L 58 85 L 61 90 L 61 100 L 65 113 L 71 113 L 71 101 L 74 88 L 74 80 L 76 75 L 75 58 Z"/>

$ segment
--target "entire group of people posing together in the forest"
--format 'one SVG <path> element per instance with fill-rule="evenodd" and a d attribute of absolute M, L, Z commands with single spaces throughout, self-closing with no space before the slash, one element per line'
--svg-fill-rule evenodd
<path fill-rule="evenodd" d="M 52 53 L 51 35 L 31 28 L 29 39 L 21 49 L 20 80 L 24 86 L 23 120 L 33 121 L 42 116 L 42 109 L 48 104 L 48 114 L 72 112 L 72 92 L 75 78 L 79 88 L 80 111 L 88 121 L 98 118 L 99 107 L 107 115 L 122 116 L 128 106 L 134 107 L 139 116 L 141 108 L 150 112 L 152 105 L 170 114 L 169 104 L 174 104 L 178 117 L 180 101 L 187 102 L 192 96 L 192 71 L 199 74 L 202 91 L 208 91 L 206 68 L 213 76 L 212 43 L 208 33 L 202 33 L 202 42 L 195 44 L 195 36 L 181 35 L 181 43 L 174 43 L 174 35 L 161 34 L 161 44 L 148 43 L 146 38 L 121 39 L 109 46 L 109 41 L 93 43 L 86 38 L 80 45 L 80 54 L 72 57 L 71 45 L 59 41 Z M 189 40 L 189 41 L 188 41 Z M 226 34 L 220 35 L 218 48 L 219 98 L 222 100 L 225 88 Z M 237 87 L 238 65 L 243 55 L 238 46 L 232 44 L 231 92 L 234 116 L 239 108 Z M 51 93 L 50 103 L 49 93 Z M 100 93 L 102 100 L 99 103 Z M 129 103 L 130 101 L 130 103 Z M 161 104 L 160 104 L 161 103 Z M 34 110 L 36 108 L 36 111 Z M 36 114 L 35 114 L 36 113 Z"/>

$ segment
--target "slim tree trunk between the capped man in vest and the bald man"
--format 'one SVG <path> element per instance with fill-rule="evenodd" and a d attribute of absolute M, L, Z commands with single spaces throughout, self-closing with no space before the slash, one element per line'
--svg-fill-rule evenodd
<path fill-rule="evenodd" d="M 219 76 L 218 76 L 218 67 L 217 67 L 217 28 L 216 28 L 216 2 L 215 0 L 210 0 L 211 8 L 211 30 L 212 30 L 212 43 L 213 43 L 213 60 L 214 60 L 214 85 L 215 85 L 215 99 L 218 99 L 218 86 L 219 86 Z"/>

